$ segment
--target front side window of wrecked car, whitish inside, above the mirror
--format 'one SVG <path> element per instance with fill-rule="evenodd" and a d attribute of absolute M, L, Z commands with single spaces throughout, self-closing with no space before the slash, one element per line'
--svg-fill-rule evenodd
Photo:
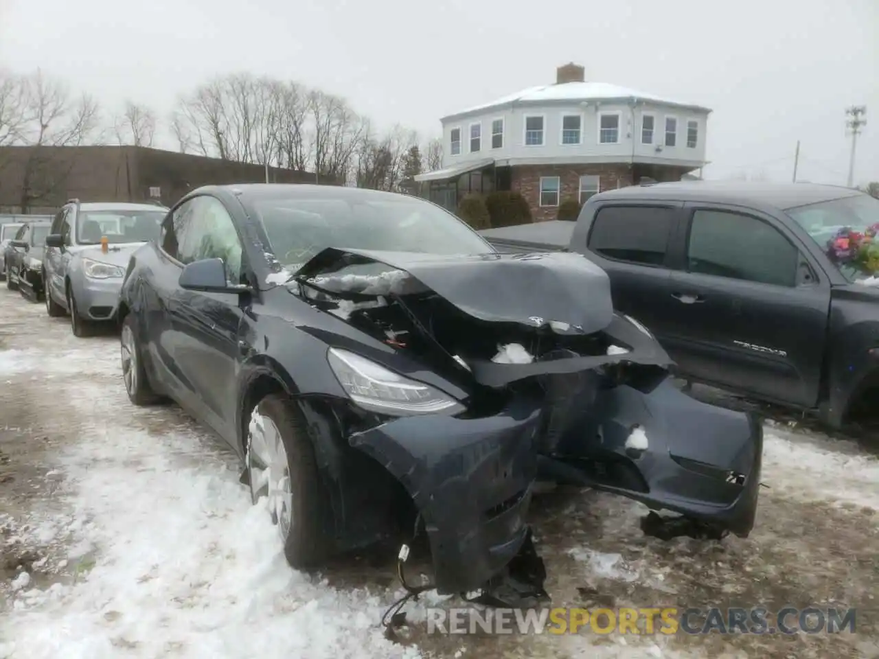
<path fill-rule="evenodd" d="M 241 282 L 241 240 L 226 206 L 214 197 L 193 199 L 191 228 L 180 243 L 179 260 L 192 263 L 203 258 L 222 258 L 226 279 L 231 284 Z"/>

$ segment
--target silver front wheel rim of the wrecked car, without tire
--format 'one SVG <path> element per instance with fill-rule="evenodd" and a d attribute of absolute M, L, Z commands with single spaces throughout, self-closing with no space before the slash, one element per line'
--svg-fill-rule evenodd
<path fill-rule="evenodd" d="M 251 476 L 251 494 L 254 502 L 265 496 L 272 521 L 278 525 L 281 538 L 287 540 L 293 525 L 293 484 L 287 449 L 278 426 L 267 416 L 254 412 L 251 424 L 251 444 L 247 452 L 247 467 Z"/>

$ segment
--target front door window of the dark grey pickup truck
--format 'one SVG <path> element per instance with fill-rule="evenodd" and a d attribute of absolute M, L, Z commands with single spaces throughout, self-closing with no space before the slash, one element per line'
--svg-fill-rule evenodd
<path fill-rule="evenodd" d="M 687 270 L 795 286 L 799 250 L 777 228 L 752 215 L 697 210 L 686 249 Z"/>

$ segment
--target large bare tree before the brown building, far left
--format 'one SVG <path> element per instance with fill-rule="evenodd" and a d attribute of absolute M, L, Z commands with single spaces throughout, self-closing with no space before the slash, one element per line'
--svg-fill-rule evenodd
<path fill-rule="evenodd" d="M 98 134 L 98 103 L 87 94 L 74 97 L 68 87 L 44 76 L 40 69 L 22 79 L 24 120 L 18 144 L 31 147 L 23 163 L 20 187 L 22 213 L 40 199 L 65 192 L 75 154 L 61 147 L 79 147 Z"/>

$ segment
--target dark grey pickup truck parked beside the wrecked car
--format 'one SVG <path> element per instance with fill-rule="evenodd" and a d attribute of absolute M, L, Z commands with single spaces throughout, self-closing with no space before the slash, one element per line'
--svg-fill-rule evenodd
<path fill-rule="evenodd" d="M 877 230 L 879 199 L 849 188 L 682 181 L 601 192 L 576 222 L 481 233 L 599 264 L 680 377 L 839 428 L 879 417 Z"/>

